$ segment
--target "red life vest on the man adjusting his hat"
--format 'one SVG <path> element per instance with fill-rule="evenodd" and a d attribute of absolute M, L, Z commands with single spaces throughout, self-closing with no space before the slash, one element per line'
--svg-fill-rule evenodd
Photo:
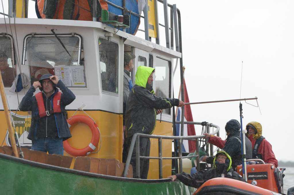
<path fill-rule="evenodd" d="M 39 92 L 35 95 L 36 100 L 37 100 L 37 105 L 38 105 L 38 110 L 39 110 L 39 116 L 40 118 L 44 116 L 49 116 L 53 113 L 60 113 L 61 112 L 61 92 L 57 92 L 54 97 L 53 97 L 53 110 L 52 111 L 46 111 L 45 105 L 44 105 L 44 99 L 43 99 L 43 94 L 42 92 Z"/>

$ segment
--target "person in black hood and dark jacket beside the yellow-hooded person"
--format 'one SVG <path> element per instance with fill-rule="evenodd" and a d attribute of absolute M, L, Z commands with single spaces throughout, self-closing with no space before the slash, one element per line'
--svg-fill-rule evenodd
<path fill-rule="evenodd" d="M 227 132 L 227 139 L 222 140 L 220 137 L 213 136 L 211 134 L 205 133 L 206 139 L 209 138 L 208 143 L 216 145 L 221 148 L 221 151 L 228 153 L 232 158 L 232 167 L 236 170 L 238 165 L 242 164 L 242 145 L 241 145 L 241 135 L 240 135 L 240 123 L 235 119 L 231 119 L 225 125 L 225 131 Z M 252 144 L 250 140 L 245 136 L 245 150 L 246 159 L 252 159 Z M 203 162 L 209 164 L 213 163 L 214 156 L 204 157 Z"/>

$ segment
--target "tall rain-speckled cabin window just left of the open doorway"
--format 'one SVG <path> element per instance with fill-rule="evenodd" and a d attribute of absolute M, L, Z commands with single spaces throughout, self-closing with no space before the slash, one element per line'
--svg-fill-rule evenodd
<path fill-rule="evenodd" d="M 99 38 L 102 91 L 118 93 L 118 44 Z"/>

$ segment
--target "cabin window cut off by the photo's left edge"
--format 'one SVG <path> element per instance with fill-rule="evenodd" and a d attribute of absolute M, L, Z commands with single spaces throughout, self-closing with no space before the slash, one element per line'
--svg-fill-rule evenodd
<path fill-rule="evenodd" d="M 10 35 L 0 37 L 0 70 L 4 87 L 11 87 L 16 77 L 13 42 Z"/>

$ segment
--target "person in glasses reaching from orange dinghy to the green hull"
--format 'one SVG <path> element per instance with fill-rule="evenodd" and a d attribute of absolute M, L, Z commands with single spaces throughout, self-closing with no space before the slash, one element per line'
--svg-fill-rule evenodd
<path fill-rule="evenodd" d="M 177 173 L 175 175 L 168 176 L 167 178 L 172 178 L 172 181 L 178 179 L 186 186 L 191 186 L 194 188 L 199 188 L 209 179 L 213 179 L 216 177 L 225 177 L 246 182 L 240 174 L 233 170 L 231 165 L 232 160 L 230 155 L 228 155 L 226 152 L 220 151 L 213 159 L 212 169 L 205 169 L 194 174 L 187 174 L 185 172 Z"/>

